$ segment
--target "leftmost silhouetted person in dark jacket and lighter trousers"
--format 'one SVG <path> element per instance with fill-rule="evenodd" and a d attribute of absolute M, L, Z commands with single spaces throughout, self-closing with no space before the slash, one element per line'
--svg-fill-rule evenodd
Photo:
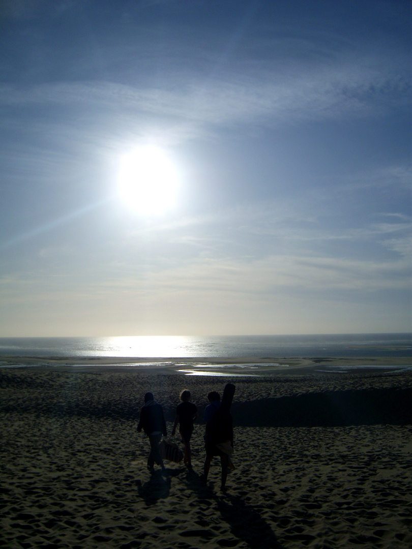
<path fill-rule="evenodd" d="M 144 406 L 140 411 L 140 420 L 137 425 L 139 433 L 141 433 L 142 428 L 150 441 L 151 450 L 147 458 L 148 469 L 153 472 L 154 463 L 156 462 L 162 467 L 162 471 L 164 471 L 165 468 L 162 456 L 160 456 L 159 442 L 162 440 L 162 434 L 167 436 L 168 432 L 166 430 L 162 406 L 154 400 L 152 393 L 144 395 Z"/>

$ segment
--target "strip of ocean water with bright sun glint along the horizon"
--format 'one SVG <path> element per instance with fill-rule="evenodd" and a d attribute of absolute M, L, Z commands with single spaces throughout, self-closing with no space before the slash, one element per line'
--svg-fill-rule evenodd
<path fill-rule="evenodd" d="M 412 334 L 0 338 L 21 357 L 412 357 Z"/>

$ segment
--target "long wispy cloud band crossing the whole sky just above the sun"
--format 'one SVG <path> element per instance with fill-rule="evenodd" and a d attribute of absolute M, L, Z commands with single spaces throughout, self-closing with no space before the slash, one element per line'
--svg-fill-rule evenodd
<path fill-rule="evenodd" d="M 250 122 L 293 122 L 337 119 L 343 115 L 381 113 L 388 104 L 406 104 L 407 75 L 366 60 L 337 68 L 303 68 L 293 75 L 264 72 L 259 77 L 236 76 L 196 82 L 190 75 L 170 77 L 167 86 L 133 87 L 113 82 L 58 82 L 30 89 L 3 86 L 4 105 L 59 104 L 124 111 L 129 115 L 168 116 L 198 124 L 231 125 Z M 166 82 L 165 82 L 166 83 Z M 386 106 L 385 106 L 386 105 Z"/>

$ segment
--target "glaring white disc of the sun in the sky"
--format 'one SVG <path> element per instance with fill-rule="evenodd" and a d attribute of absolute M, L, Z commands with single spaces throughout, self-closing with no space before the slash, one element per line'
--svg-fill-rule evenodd
<path fill-rule="evenodd" d="M 118 188 L 126 204 L 140 214 L 161 214 L 176 204 L 179 177 L 162 149 L 139 147 L 123 156 Z"/>

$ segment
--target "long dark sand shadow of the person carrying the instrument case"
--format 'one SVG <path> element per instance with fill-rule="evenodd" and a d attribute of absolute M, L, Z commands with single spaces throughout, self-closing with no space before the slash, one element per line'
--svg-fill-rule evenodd
<path fill-rule="evenodd" d="M 196 492 L 199 500 L 214 502 L 222 519 L 229 524 L 233 537 L 246 542 L 250 549 L 285 549 L 276 540 L 274 531 L 259 511 L 246 505 L 240 496 L 225 492 L 218 495 L 211 490 L 197 473 L 187 474 L 185 483 L 188 489 Z M 216 543 L 221 547 L 233 546 L 233 541 L 221 539 Z"/>

